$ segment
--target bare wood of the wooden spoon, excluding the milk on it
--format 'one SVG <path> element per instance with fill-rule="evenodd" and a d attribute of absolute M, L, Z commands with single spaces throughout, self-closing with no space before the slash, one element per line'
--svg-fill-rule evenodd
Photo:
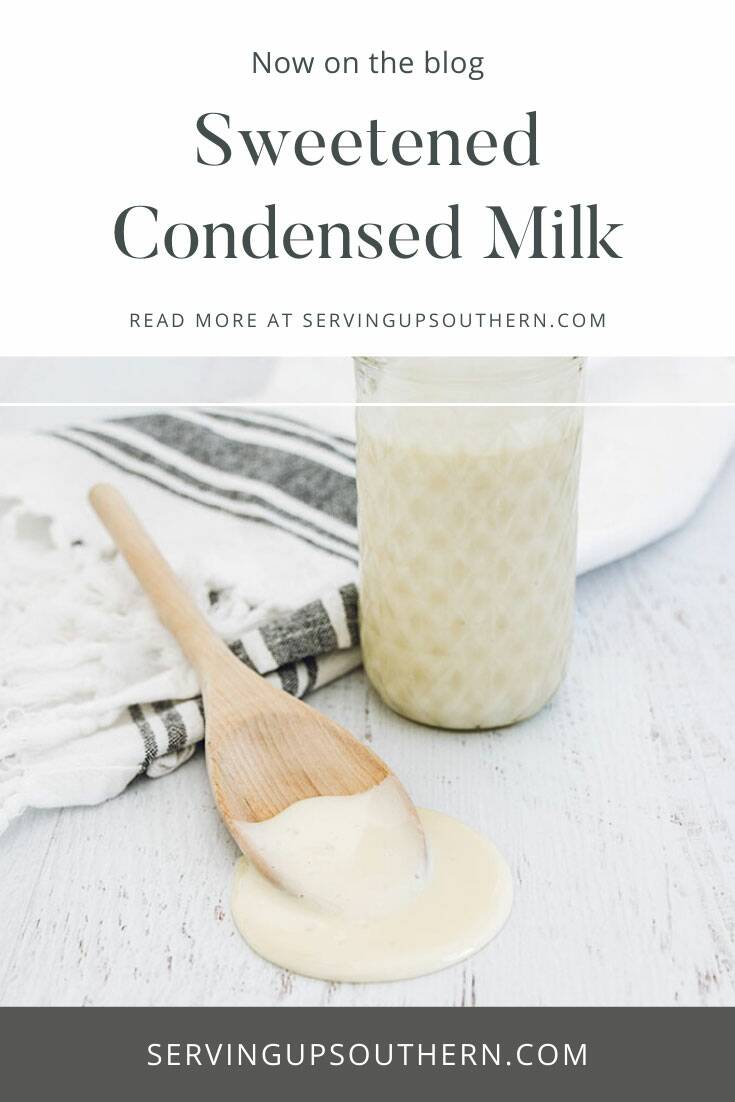
<path fill-rule="evenodd" d="M 268 684 L 215 634 L 122 495 L 95 486 L 89 500 L 161 623 L 199 679 L 206 759 L 215 802 L 240 849 L 271 869 L 238 827 L 262 822 L 314 796 L 355 796 L 391 777 L 421 832 L 406 790 L 388 766 L 339 724 Z M 421 833 L 421 852 L 425 844 Z"/>

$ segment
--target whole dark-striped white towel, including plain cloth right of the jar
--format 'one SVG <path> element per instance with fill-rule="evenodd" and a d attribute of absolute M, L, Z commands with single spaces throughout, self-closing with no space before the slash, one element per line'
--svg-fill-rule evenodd
<path fill-rule="evenodd" d="M 287 361 L 267 400 L 350 402 L 349 380 L 343 360 Z M 734 363 L 588 365 L 593 402 L 702 398 L 735 402 Z M 119 485 L 215 629 L 277 684 L 301 695 L 358 665 L 352 411 L 309 418 L 177 410 L 0 436 L 0 830 L 161 776 L 203 735 L 192 670 L 87 505 L 95 482 Z M 683 523 L 734 442 L 724 406 L 588 410 L 580 572 Z"/>

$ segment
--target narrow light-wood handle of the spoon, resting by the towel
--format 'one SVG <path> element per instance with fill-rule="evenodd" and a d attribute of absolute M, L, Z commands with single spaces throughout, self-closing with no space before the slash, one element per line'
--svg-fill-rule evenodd
<path fill-rule="evenodd" d="M 89 501 L 199 680 L 206 678 L 213 663 L 231 660 L 227 646 L 194 604 L 122 494 L 114 486 L 98 483 L 89 491 Z"/>

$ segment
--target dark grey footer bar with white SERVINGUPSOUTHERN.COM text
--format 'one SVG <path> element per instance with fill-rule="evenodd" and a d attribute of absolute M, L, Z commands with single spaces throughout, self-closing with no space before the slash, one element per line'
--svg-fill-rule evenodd
<path fill-rule="evenodd" d="M 6 1008 L 7 1098 L 728 1094 L 735 1009 Z"/>

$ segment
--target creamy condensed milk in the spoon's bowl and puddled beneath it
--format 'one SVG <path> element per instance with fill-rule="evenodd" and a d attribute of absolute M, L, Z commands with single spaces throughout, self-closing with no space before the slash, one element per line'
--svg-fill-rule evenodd
<path fill-rule="evenodd" d="M 424 863 L 392 784 L 302 800 L 252 827 L 272 869 L 301 888 L 293 894 L 249 858 L 238 862 L 233 914 L 261 957 L 322 980 L 402 980 L 464 960 L 499 932 L 512 903 L 501 855 L 448 815 L 422 810 Z"/>

